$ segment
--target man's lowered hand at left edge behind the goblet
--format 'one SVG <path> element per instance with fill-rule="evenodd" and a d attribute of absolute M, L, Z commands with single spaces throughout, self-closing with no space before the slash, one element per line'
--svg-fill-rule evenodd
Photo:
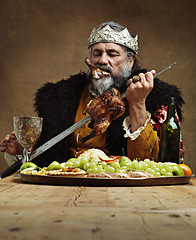
<path fill-rule="evenodd" d="M 16 139 L 15 133 L 12 132 L 11 135 L 7 135 L 1 142 L 0 145 L 1 152 L 6 152 L 10 155 L 20 155 L 23 152 L 23 147 L 19 144 Z"/>

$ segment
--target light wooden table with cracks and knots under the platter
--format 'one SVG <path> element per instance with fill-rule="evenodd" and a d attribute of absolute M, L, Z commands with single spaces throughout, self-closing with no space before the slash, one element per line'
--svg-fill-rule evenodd
<path fill-rule="evenodd" d="M 196 178 L 151 187 L 0 180 L 0 239 L 196 239 Z"/>

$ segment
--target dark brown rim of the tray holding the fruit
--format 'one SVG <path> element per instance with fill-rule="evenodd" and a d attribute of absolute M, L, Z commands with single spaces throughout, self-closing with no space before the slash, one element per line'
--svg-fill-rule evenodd
<path fill-rule="evenodd" d="M 62 177 L 62 176 L 39 176 L 20 174 L 21 180 L 27 183 L 64 185 L 64 186 L 161 186 L 187 184 L 192 176 L 157 177 L 157 178 L 87 178 L 87 177 Z"/>

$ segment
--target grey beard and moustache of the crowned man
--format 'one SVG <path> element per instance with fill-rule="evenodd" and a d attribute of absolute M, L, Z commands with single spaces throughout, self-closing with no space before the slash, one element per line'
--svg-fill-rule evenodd
<path fill-rule="evenodd" d="M 101 67 L 98 65 L 96 66 L 101 70 L 107 70 L 107 68 L 105 67 Z M 95 79 L 92 77 L 91 71 L 88 70 L 87 75 L 90 79 L 89 91 L 94 96 L 99 96 L 111 87 L 115 87 L 119 90 L 122 86 L 125 85 L 126 81 L 129 79 L 131 75 L 131 72 L 132 72 L 132 69 L 129 69 L 126 63 L 124 64 L 122 72 L 118 76 L 114 76 L 111 73 L 109 76 L 106 76 L 100 79 Z"/>

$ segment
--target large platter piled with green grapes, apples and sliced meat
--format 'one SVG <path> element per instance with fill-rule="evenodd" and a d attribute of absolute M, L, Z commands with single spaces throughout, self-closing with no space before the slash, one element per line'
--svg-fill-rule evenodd
<path fill-rule="evenodd" d="M 89 149 L 63 163 L 53 161 L 43 168 L 33 162 L 20 168 L 23 182 L 69 186 L 175 185 L 189 183 L 192 176 L 185 164 L 107 156 L 99 149 Z"/>

